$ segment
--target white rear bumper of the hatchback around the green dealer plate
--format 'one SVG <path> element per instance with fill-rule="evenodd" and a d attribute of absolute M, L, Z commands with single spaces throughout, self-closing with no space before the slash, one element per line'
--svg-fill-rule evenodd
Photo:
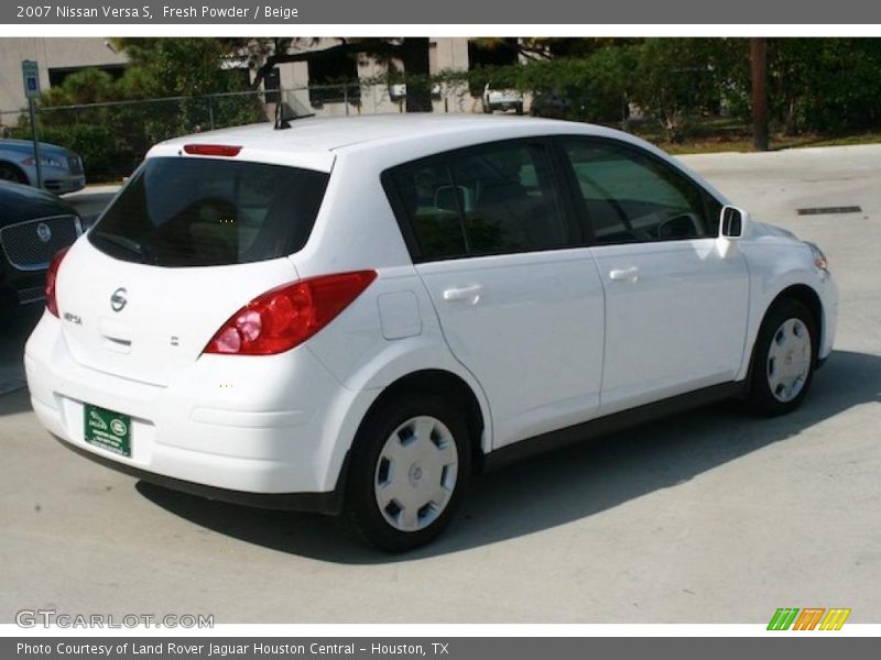
<path fill-rule="evenodd" d="M 25 348 L 25 372 L 41 424 L 77 453 L 214 499 L 337 510 L 350 438 L 335 411 L 352 409 L 358 395 L 305 346 L 235 362 L 203 356 L 163 387 L 75 362 L 61 323 L 44 314 Z M 131 417 L 131 457 L 85 441 L 84 404 Z"/>

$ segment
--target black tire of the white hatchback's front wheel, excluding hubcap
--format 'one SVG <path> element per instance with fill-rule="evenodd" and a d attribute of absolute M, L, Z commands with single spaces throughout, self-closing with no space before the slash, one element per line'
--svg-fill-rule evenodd
<path fill-rule="evenodd" d="M 800 321 L 802 327 L 807 330 L 811 355 L 807 374 L 803 378 L 797 394 L 791 398 L 785 396 L 781 398 L 779 394 L 785 393 L 775 394 L 771 388 L 770 373 L 772 373 L 773 367 L 770 364 L 770 352 L 772 342 L 777 342 L 779 338 L 783 337 L 780 332 L 783 330 L 784 323 L 790 321 Z M 755 339 L 752 364 L 750 365 L 750 389 L 747 396 L 747 405 L 753 413 L 765 417 L 775 417 L 791 413 L 802 405 L 814 378 L 818 340 L 817 321 L 811 310 L 798 300 L 784 298 L 768 311 Z"/>

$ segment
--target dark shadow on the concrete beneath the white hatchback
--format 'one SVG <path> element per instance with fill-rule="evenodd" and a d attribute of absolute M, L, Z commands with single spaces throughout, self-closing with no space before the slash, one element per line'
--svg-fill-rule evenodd
<path fill-rule="evenodd" d="M 687 482 L 855 406 L 881 400 L 881 356 L 835 352 L 805 405 L 773 419 L 735 403 L 634 427 L 480 475 L 454 524 L 428 547 L 392 556 L 349 541 L 331 518 L 252 509 L 139 482 L 155 505 L 216 532 L 328 562 L 413 561 L 530 535 Z"/>

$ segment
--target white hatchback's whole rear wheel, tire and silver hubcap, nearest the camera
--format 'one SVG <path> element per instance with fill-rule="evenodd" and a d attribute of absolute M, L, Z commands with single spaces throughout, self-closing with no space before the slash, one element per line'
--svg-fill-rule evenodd
<path fill-rule="evenodd" d="M 439 396 L 383 406 L 365 420 L 352 448 L 344 527 L 390 552 L 432 541 L 461 501 L 469 447 L 463 415 Z"/>

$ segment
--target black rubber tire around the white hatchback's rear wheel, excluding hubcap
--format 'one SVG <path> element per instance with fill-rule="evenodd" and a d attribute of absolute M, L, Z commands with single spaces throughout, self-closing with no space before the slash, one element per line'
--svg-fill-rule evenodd
<path fill-rule="evenodd" d="M 455 485 L 449 490 L 449 498 L 439 515 L 421 529 L 402 531 L 387 519 L 389 509 L 380 508 L 374 484 L 382 474 L 380 460 L 387 441 L 390 441 L 399 427 L 417 417 L 433 418 L 446 427 L 455 443 L 458 465 L 455 481 L 449 480 Z M 385 461 L 384 458 L 382 460 Z M 412 469 L 413 465 L 410 472 Z M 413 394 L 390 402 L 369 415 L 355 439 L 339 522 L 350 536 L 387 552 L 404 552 L 418 548 L 434 540 L 449 525 L 465 495 L 470 472 L 470 438 L 461 413 L 434 394 Z M 428 470 L 425 473 L 429 474 Z M 422 518 L 420 521 L 422 524 Z"/>

